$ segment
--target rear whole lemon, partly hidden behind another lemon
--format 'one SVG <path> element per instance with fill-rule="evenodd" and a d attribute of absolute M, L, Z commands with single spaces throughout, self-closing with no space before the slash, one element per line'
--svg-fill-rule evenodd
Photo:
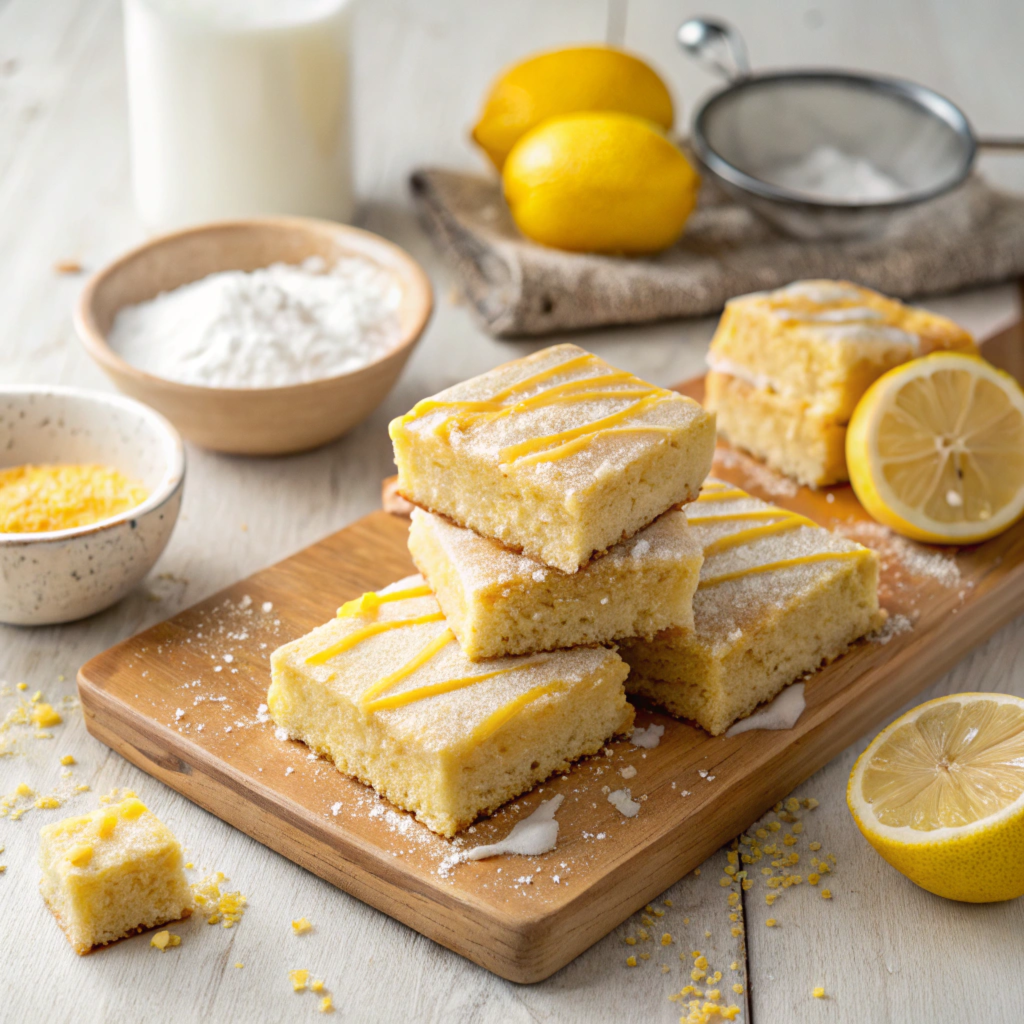
<path fill-rule="evenodd" d="M 548 118 L 616 111 L 672 127 L 672 96 L 638 57 L 610 46 L 553 50 L 515 65 L 492 86 L 473 139 L 501 170 L 512 146 Z"/>

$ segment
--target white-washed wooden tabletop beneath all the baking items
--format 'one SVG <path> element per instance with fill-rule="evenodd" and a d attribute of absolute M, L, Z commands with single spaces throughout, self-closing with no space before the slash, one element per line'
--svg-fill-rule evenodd
<path fill-rule="evenodd" d="M 716 13 L 739 25 L 756 66 L 867 68 L 914 78 L 958 101 L 988 132 L 1020 132 L 1024 6 L 927 0 L 731 0 Z M 349 437 L 281 460 L 244 460 L 190 450 L 181 520 L 154 573 L 110 611 L 59 629 L 0 627 L 0 720 L 14 684 L 50 700 L 74 694 L 78 667 L 115 641 L 236 579 L 335 530 L 379 504 L 391 467 L 385 425 L 417 398 L 539 347 L 485 337 L 455 298 L 453 282 L 416 224 L 410 170 L 424 163 L 478 166 L 466 140 L 479 96 L 498 69 L 552 45 L 608 40 L 646 54 L 672 80 L 684 117 L 714 83 L 676 50 L 674 31 L 691 13 L 658 0 L 372 0 L 355 44 L 359 222 L 408 247 L 428 268 L 437 312 L 384 407 Z M 986 165 L 1024 188 L 1024 161 Z M 108 388 L 74 337 L 71 306 L 81 279 L 53 265 L 95 268 L 137 242 L 129 187 L 121 22 L 116 0 L 0 0 L 0 383 L 74 383 Z M 1017 315 L 1014 291 L 992 288 L 931 304 L 981 335 Z M 698 372 L 712 321 L 595 332 L 580 338 L 611 361 L 671 383 Z M 1024 695 L 1024 621 L 1018 620 L 921 699 L 957 690 Z M 916 702 L 916 701 L 915 701 Z M 269 852 L 132 768 L 86 734 L 71 710 L 51 740 L 26 738 L 0 758 L 0 793 L 18 782 L 48 792 L 71 753 L 91 792 L 62 810 L 0 819 L 0 1019 L 11 1022 L 302 1019 L 316 1007 L 294 994 L 287 972 L 308 968 L 348 1021 L 675 1021 L 668 993 L 689 982 L 675 951 L 635 970 L 624 927 L 549 981 L 528 988 L 496 978 Z M 1018 1022 L 1024 1015 L 1024 902 L 969 906 L 916 889 L 861 840 L 847 813 L 847 775 L 863 739 L 798 793 L 821 806 L 810 820 L 838 855 L 834 899 L 803 887 L 784 909 L 763 899 L 742 908 L 742 941 L 730 935 L 720 871 L 706 865 L 669 895 L 665 919 L 680 942 L 738 977 L 743 1020 L 759 1022 Z M 198 869 L 223 870 L 249 897 L 226 931 L 196 919 L 175 929 L 177 949 L 146 938 L 101 953 L 72 954 L 37 892 L 41 824 L 95 806 L 130 786 L 188 847 Z M 809 825 L 810 830 L 812 826 Z M 718 855 L 719 859 L 722 855 Z M 713 858 L 714 859 L 714 858 Z M 765 927 L 774 913 L 779 926 Z M 315 931 L 292 935 L 308 916 Z M 684 925 L 683 919 L 690 924 Z M 634 928 L 637 921 L 630 923 Z M 710 933 L 710 937 L 706 935 Z M 650 948 L 650 947 L 648 947 Z M 633 950 L 635 951 L 635 950 Z M 236 962 L 245 964 L 238 970 Z M 660 964 L 668 964 L 663 974 Z M 725 968 L 723 967 L 723 970 Z M 812 998 L 824 986 L 828 998 Z M 744 1004 L 744 999 L 749 1002 Z M 972 1009 L 969 1011 L 967 1007 Z"/>

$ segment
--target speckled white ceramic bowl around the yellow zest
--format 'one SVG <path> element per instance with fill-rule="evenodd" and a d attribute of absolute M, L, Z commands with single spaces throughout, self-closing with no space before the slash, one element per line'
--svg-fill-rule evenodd
<path fill-rule="evenodd" d="M 0 534 L 0 623 L 67 623 L 119 601 L 164 550 L 185 475 L 177 431 L 140 402 L 77 388 L 0 389 L 0 468 L 90 462 L 140 480 L 150 497 L 91 526 Z"/>

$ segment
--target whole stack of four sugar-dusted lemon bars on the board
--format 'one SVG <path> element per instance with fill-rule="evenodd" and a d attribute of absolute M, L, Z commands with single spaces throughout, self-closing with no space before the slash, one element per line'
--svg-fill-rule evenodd
<path fill-rule="evenodd" d="M 557 345 L 391 424 L 420 575 L 272 657 L 276 724 L 454 836 L 628 734 L 718 735 L 879 618 L 878 560 L 708 480 L 714 415 Z"/>

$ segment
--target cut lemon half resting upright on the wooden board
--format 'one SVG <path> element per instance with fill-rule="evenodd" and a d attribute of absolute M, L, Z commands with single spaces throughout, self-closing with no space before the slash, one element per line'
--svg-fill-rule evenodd
<path fill-rule="evenodd" d="M 904 362 L 854 410 L 846 461 L 860 504 L 897 534 L 984 541 L 1024 513 L 1024 391 L 977 355 Z"/>

